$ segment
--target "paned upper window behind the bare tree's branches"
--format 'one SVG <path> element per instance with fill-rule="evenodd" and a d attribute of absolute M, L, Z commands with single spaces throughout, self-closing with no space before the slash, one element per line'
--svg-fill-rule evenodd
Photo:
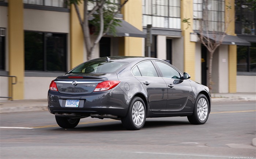
<path fill-rule="evenodd" d="M 225 0 L 193 0 L 193 17 L 194 30 L 224 32 Z"/>

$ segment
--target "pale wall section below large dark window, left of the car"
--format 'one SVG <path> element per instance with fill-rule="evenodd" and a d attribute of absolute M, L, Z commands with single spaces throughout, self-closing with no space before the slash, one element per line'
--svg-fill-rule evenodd
<path fill-rule="evenodd" d="M 24 77 L 24 99 L 47 99 L 50 83 L 56 77 Z"/>

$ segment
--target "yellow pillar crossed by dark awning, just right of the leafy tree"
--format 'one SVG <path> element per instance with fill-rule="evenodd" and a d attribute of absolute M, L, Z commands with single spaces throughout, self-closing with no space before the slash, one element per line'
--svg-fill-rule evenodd
<path fill-rule="evenodd" d="M 121 4 L 124 0 L 121 0 Z M 129 0 L 121 10 L 124 16 L 124 20 L 138 28 L 140 31 L 142 28 L 142 0 Z M 123 37 L 120 38 L 124 41 L 124 45 L 120 46 L 119 55 L 125 56 L 142 56 L 142 40 L 141 37 Z"/>

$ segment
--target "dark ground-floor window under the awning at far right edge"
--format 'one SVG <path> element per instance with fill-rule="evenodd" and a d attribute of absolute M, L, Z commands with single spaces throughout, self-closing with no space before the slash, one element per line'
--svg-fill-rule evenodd
<path fill-rule="evenodd" d="M 237 72 L 256 72 L 256 43 L 237 45 Z"/>

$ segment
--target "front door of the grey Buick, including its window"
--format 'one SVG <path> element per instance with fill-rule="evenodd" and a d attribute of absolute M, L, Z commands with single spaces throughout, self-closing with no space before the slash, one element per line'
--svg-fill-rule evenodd
<path fill-rule="evenodd" d="M 189 95 L 192 92 L 192 88 L 188 80 L 182 80 L 180 72 L 178 72 L 171 65 L 163 63 L 161 61 L 154 61 L 157 65 L 161 76 L 167 85 L 167 104 L 166 113 L 173 111 L 186 111 L 186 104 L 189 99 Z"/>

